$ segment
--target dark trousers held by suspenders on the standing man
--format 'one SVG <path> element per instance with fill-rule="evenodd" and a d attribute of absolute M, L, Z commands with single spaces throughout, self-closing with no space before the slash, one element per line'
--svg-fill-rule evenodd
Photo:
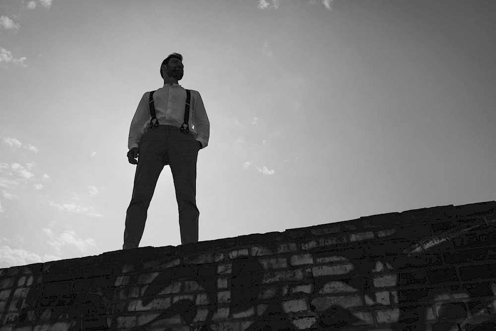
<path fill-rule="evenodd" d="M 196 207 L 198 143 L 193 134 L 185 134 L 180 128 L 171 125 L 147 128 L 138 148 L 134 188 L 125 218 L 123 249 L 138 247 L 157 180 L 168 164 L 176 188 L 181 244 L 197 243 L 200 214 Z"/>

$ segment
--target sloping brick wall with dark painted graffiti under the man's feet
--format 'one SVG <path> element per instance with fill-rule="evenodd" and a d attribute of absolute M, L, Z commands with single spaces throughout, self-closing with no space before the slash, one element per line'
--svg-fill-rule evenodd
<path fill-rule="evenodd" d="M 495 330 L 495 206 L 0 269 L 0 331 Z"/>

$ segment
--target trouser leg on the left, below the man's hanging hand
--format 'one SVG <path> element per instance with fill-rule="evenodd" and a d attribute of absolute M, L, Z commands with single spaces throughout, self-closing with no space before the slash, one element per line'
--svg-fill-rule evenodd
<path fill-rule="evenodd" d="M 164 141 L 157 133 L 145 132 L 139 142 L 132 198 L 125 218 L 123 249 L 138 247 L 143 236 L 148 207 L 164 168 Z"/>

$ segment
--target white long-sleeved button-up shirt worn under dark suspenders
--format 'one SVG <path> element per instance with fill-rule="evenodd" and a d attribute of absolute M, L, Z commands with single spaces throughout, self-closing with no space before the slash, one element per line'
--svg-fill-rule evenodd
<path fill-rule="evenodd" d="M 152 117 L 148 103 L 149 98 L 150 92 L 145 92 L 132 118 L 127 141 L 129 149 L 138 147 L 139 139 L 150 125 Z M 186 89 L 176 83 L 164 84 L 153 93 L 153 102 L 159 125 L 173 125 L 178 128 L 183 126 L 186 110 Z M 202 148 L 205 148 L 210 136 L 210 122 L 198 91 L 191 90 L 189 104 L 189 132 L 193 133 L 193 137 L 201 142 Z"/>

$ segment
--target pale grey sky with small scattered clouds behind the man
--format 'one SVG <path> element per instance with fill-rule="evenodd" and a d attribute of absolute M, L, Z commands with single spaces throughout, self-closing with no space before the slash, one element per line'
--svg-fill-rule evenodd
<path fill-rule="evenodd" d="M 496 1 L 1 0 L 0 267 L 121 250 L 159 68 L 210 121 L 199 241 L 495 200 Z M 140 247 L 181 245 L 170 167 Z"/>

